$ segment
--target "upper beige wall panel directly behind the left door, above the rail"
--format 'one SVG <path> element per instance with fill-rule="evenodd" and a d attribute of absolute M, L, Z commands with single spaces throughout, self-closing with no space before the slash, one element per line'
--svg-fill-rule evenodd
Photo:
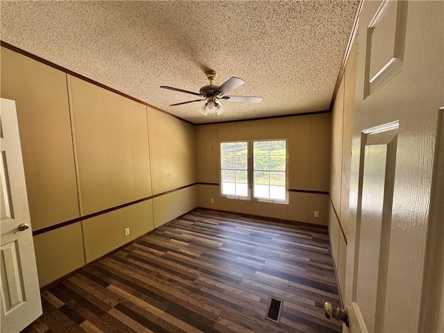
<path fill-rule="evenodd" d="M 33 229 L 80 216 L 65 73 L 1 48 L 1 97 L 15 100 Z"/>

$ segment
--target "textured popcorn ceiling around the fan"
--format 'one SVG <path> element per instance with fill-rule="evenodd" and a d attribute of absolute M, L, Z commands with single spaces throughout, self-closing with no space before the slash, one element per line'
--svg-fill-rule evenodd
<path fill-rule="evenodd" d="M 208 123 L 327 110 L 358 1 L 1 1 L 1 40 L 156 108 Z M 196 96 L 246 83 L 202 116 Z"/>

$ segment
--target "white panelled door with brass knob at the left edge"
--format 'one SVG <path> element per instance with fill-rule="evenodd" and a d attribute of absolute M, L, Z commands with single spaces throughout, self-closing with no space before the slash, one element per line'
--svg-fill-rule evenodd
<path fill-rule="evenodd" d="M 42 314 L 15 102 L 1 99 L 1 317 L 19 332 Z M 26 228 L 28 227 L 28 228 Z M 22 231 L 19 231 L 22 230 Z"/>

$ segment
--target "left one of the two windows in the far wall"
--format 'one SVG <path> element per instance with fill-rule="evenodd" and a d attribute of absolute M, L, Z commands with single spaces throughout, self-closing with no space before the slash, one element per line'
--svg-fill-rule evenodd
<path fill-rule="evenodd" d="M 221 194 L 248 198 L 248 142 L 221 142 Z"/>

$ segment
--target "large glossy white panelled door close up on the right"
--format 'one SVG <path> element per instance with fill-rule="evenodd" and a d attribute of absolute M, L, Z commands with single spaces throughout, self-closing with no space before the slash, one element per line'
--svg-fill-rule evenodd
<path fill-rule="evenodd" d="M 443 177 L 442 169 L 434 172 L 435 153 L 444 153 L 436 146 L 444 112 L 443 22 L 444 1 L 364 2 L 345 279 L 350 326 L 344 332 L 425 332 L 429 210 L 433 200 L 441 206 L 443 200 L 431 194 Z"/>

